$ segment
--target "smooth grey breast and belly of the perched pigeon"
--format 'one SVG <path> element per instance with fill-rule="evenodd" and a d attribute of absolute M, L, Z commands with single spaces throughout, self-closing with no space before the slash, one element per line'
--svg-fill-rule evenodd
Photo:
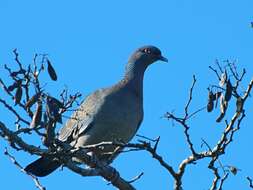
<path fill-rule="evenodd" d="M 94 117 L 93 130 L 88 131 L 86 135 L 89 135 L 89 141 L 92 140 L 90 143 L 115 140 L 129 142 L 142 118 L 142 102 L 136 96 L 112 94 L 105 98 Z"/>

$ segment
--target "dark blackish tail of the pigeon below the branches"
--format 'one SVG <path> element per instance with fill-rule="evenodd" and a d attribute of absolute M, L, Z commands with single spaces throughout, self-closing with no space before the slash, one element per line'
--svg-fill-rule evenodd
<path fill-rule="evenodd" d="M 38 177 L 44 177 L 52 173 L 61 163 L 47 157 L 41 157 L 25 167 L 25 171 Z"/>

